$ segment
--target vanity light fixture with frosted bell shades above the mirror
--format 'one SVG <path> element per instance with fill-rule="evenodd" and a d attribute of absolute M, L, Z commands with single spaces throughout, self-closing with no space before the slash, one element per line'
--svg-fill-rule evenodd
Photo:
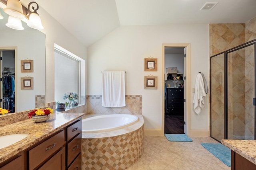
<path fill-rule="evenodd" d="M 7 1 L 7 2 L 6 2 Z M 6 14 L 9 14 L 8 23 L 6 23 L 6 26 L 12 28 L 12 29 L 18 29 L 23 30 L 22 23 L 20 19 L 24 19 L 27 23 L 27 25 L 34 29 L 44 29 L 42 26 L 41 19 L 36 12 L 39 8 L 38 4 L 36 2 L 30 2 L 28 4 L 28 8 L 23 6 L 20 3 L 20 0 L 0 0 L 0 2 L 4 5 L 6 5 L 6 8 L 4 8 L 1 5 L 1 8 L 4 8 L 4 12 Z M 33 6 L 32 4 L 35 4 L 36 6 Z M 30 6 L 32 7 L 32 10 L 30 11 Z M 16 18 L 16 19 L 15 19 Z M 0 14 L 1 19 L 1 14 Z"/>

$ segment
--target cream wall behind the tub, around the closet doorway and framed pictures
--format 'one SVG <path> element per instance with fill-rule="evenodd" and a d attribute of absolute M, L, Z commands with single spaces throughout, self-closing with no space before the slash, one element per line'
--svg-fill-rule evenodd
<path fill-rule="evenodd" d="M 198 71 L 209 72 L 208 24 L 168 26 L 121 26 L 88 47 L 88 95 L 101 95 L 101 71 L 125 70 L 126 95 L 142 95 L 145 129 L 162 127 L 162 43 L 191 44 L 191 82 L 194 88 Z M 144 58 L 158 59 L 156 72 L 144 71 Z M 158 89 L 145 90 L 144 76 L 158 76 Z M 194 96 L 194 94 L 191 94 Z M 193 108 L 191 97 L 191 109 Z M 191 129 L 208 130 L 208 99 L 200 115 L 191 110 Z"/>

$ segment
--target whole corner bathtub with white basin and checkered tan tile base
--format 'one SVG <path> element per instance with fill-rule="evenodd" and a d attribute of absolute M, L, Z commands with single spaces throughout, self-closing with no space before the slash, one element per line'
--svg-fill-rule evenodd
<path fill-rule="evenodd" d="M 143 152 L 142 115 L 95 114 L 82 119 L 83 170 L 124 170 L 137 162 Z"/>

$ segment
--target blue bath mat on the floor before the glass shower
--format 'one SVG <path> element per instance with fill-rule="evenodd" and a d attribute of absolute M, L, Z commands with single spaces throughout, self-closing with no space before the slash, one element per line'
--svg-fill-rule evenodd
<path fill-rule="evenodd" d="M 231 150 L 221 143 L 201 143 L 201 145 L 221 160 L 227 166 L 231 166 Z"/>

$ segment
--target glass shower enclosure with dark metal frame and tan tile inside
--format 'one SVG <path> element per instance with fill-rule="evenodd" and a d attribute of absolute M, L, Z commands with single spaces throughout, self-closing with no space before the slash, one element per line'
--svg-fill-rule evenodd
<path fill-rule="evenodd" d="M 255 140 L 256 39 L 210 57 L 211 137 Z"/>

